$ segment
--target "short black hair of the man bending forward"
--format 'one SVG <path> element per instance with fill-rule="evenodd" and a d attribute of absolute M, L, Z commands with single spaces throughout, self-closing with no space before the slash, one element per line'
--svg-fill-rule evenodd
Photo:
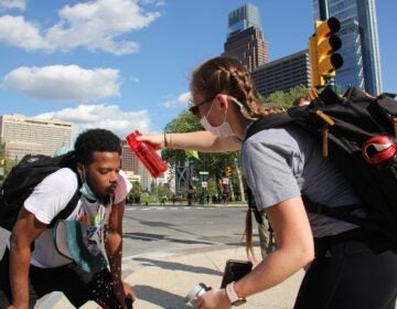
<path fill-rule="evenodd" d="M 93 152 L 118 152 L 121 154 L 120 139 L 106 129 L 88 129 L 82 132 L 74 145 L 77 162 L 89 166 Z"/>

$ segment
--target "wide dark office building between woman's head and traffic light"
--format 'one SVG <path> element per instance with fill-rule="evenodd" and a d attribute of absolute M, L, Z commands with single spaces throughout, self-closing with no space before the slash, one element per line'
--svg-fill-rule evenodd
<path fill-rule="evenodd" d="M 308 50 L 264 64 L 251 72 L 258 93 L 267 97 L 281 90 L 303 85 L 310 87 L 310 61 Z"/>

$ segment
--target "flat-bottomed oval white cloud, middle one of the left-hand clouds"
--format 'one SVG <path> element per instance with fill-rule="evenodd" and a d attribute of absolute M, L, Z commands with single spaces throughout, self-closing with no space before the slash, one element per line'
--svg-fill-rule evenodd
<path fill-rule="evenodd" d="M 21 66 L 3 78 L 3 88 L 36 99 L 87 102 L 119 94 L 119 71 L 77 65 Z"/>

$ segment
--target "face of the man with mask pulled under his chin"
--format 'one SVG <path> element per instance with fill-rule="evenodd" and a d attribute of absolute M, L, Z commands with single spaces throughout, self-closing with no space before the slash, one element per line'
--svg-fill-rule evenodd
<path fill-rule="evenodd" d="M 93 152 L 93 162 L 85 167 L 85 177 L 89 188 L 99 199 L 115 195 L 120 171 L 118 152 Z"/>

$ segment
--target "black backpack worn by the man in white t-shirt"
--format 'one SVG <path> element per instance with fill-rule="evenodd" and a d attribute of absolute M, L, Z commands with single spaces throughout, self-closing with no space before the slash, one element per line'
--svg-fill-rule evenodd
<path fill-rule="evenodd" d="M 75 171 L 76 160 L 74 151 L 57 157 L 44 154 L 26 154 L 12 168 L 0 188 L 0 226 L 11 231 L 17 222 L 20 209 L 33 192 L 33 189 L 46 175 L 61 168 Z M 60 212 L 47 227 L 53 227 L 60 219 L 66 219 L 77 205 L 81 193 L 77 189 L 66 207 Z"/>

